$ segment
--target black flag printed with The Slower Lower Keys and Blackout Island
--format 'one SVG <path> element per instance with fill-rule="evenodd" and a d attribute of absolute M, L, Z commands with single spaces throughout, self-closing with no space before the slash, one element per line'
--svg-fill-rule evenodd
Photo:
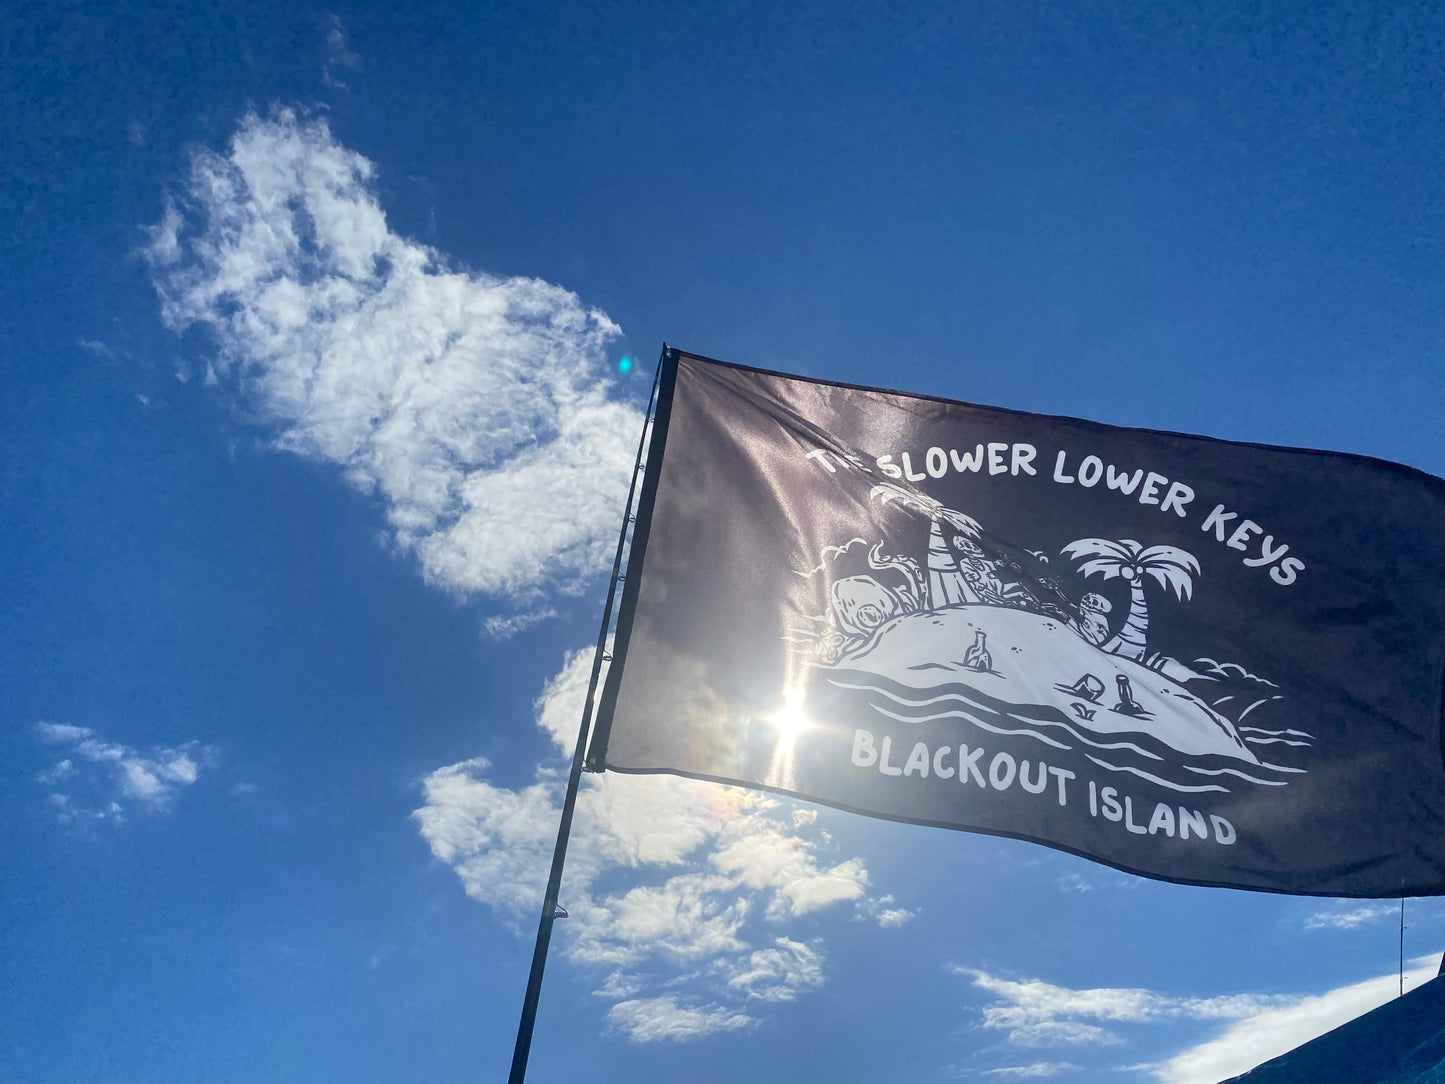
<path fill-rule="evenodd" d="M 1445 481 L 668 351 L 588 750 L 1181 883 L 1445 892 Z"/>

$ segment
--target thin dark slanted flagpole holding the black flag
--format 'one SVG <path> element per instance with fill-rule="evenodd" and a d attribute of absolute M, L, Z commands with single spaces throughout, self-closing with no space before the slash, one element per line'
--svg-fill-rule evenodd
<path fill-rule="evenodd" d="M 556 898 L 562 889 L 562 864 L 566 861 L 566 843 L 572 834 L 572 812 L 577 808 L 577 788 L 582 779 L 582 760 L 587 756 L 587 734 L 592 726 L 592 700 L 597 695 L 597 679 L 603 672 L 607 655 L 607 629 L 613 620 L 613 601 L 617 597 L 617 582 L 621 580 L 623 549 L 627 546 L 627 528 L 633 522 L 633 499 L 637 494 L 637 476 L 642 474 L 642 452 L 647 447 L 647 429 L 652 425 L 652 410 L 657 400 L 657 383 L 662 379 L 662 363 L 668 357 L 668 344 L 662 344 L 657 371 L 652 379 L 652 395 L 647 397 L 647 413 L 637 438 L 637 458 L 633 463 L 631 484 L 627 487 L 627 510 L 623 513 L 623 528 L 617 533 L 617 554 L 613 556 L 613 577 L 607 582 L 607 603 L 603 606 L 603 627 L 597 630 L 597 649 L 592 652 L 592 676 L 587 682 L 587 700 L 582 702 L 582 721 L 577 731 L 577 749 L 572 752 L 572 772 L 566 778 L 566 796 L 562 799 L 562 821 L 556 830 L 556 847 L 552 850 L 552 873 L 548 876 L 546 895 L 542 898 L 542 916 L 538 922 L 538 942 L 532 950 L 532 973 L 527 976 L 527 993 L 522 1002 L 522 1020 L 517 1025 L 517 1045 L 512 1051 L 512 1072 L 507 1084 L 523 1084 L 527 1075 L 527 1055 L 532 1052 L 532 1029 L 536 1026 L 538 1000 L 542 997 L 542 971 L 546 968 L 546 952 L 552 942 L 552 925 L 566 918 L 566 911 L 558 906 Z"/>

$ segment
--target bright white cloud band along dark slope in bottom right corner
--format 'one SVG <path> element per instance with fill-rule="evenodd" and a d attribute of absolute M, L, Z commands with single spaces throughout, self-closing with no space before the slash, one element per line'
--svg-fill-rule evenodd
<path fill-rule="evenodd" d="M 1410 964 L 1405 973 L 1406 991 L 1435 977 L 1439 957 L 1423 957 Z M 1399 974 L 1392 973 L 1314 997 L 1287 999 L 1283 1005 L 1248 1013 L 1208 1042 L 1140 1068 L 1152 1070 L 1160 1084 L 1215 1084 L 1379 1009 L 1399 994 Z"/>

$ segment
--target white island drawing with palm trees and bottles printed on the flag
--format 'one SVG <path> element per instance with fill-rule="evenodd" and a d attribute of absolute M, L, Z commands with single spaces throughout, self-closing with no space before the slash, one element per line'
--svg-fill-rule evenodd
<path fill-rule="evenodd" d="M 1071 597 L 1049 554 L 994 539 L 923 494 L 880 484 L 870 502 L 926 517 L 926 549 L 887 552 L 883 539 L 860 536 L 799 572 L 827 610 L 788 639 L 806 646 L 818 676 L 897 721 L 1022 733 L 1176 791 L 1283 786 L 1303 772 L 1272 762 L 1314 736 L 1259 726 L 1269 714 L 1259 710 L 1283 700 L 1273 682 L 1235 662 L 1186 665 L 1153 649 L 1150 606 L 1188 604 L 1199 578 L 1192 554 L 1079 538 L 1053 556 L 1084 582 L 1127 584 L 1124 608 L 1101 591 Z"/>

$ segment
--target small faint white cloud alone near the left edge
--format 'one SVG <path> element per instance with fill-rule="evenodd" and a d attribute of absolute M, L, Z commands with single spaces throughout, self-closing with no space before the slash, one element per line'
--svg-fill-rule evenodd
<path fill-rule="evenodd" d="M 199 741 L 175 749 L 155 747 L 142 753 L 117 741 L 105 741 L 88 727 L 36 723 L 35 736 L 45 744 L 69 744 L 69 756 L 39 772 L 35 780 L 51 789 L 49 804 L 61 822 L 123 821 L 127 809 L 169 808 L 182 786 L 201 776 L 197 757 L 214 757 Z"/>

